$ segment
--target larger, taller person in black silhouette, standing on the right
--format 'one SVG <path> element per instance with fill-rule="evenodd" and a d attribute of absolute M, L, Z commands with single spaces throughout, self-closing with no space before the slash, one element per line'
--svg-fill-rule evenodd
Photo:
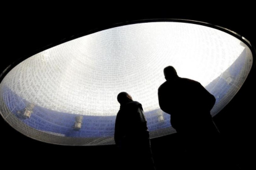
<path fill-rule="evenodd" d="M 171 125 L 189 154 L 188 164 L 210 169 L 219 137 L 210 115 L 216 99 L 197 81 L 177 76 L 171 66 L 164 68 L 164 76 L 166 82 L 158 89 L 160 108 L 171 115 Z"/>

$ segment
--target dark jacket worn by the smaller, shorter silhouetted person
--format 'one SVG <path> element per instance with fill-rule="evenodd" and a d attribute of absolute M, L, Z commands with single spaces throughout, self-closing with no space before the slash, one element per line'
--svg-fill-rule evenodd
<path fill-rule="evenodd" d="M 140 145 L 145 140 L 149 140 L 149 132 L 142 105 L 135 101 L 121 105 L 114 131 L 117 146 Z"/>

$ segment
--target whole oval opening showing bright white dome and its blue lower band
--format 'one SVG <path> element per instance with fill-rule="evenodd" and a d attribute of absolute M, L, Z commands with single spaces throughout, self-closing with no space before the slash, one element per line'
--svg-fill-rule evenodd
<path fill-rule="evenodd" d="M 170 116 L 158 105 L 168 65 L 215 95 L 214 116 L 247 78 L 252 52 L 231 34 L 192 23 L 110 28 L 47 49 L 9 71 L 0 84 L 1 115 L 43 142 L 114 144 L 116 97 L 126 91 L 142 103 L 151 138 L 171 134 Z"/>

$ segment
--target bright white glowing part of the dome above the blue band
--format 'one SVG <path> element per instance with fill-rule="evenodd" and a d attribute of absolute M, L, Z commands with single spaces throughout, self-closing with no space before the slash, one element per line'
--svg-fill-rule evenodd
<path fill-rule="evenodd" d="M 188 23 L 143 23 L 90 34 L 30 57 L 5 83 L 41 107 L 80 115 L 116 115 L 126 91 L 145 111 L 159 108 L 163 68 L 207 86 L 244 50 L 222 31 Z"/>

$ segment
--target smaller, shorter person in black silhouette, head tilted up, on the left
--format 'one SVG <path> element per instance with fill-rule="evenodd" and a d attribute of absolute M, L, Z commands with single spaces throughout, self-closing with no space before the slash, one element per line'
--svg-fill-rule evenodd
<path fill-rule="evenodd" d="M 120 110 L 116 116 L 114 140 L 121 152 L 120 169 L 155 169 L 142 105 L 126 92 L 119 93 L 117 101 Z"/>

